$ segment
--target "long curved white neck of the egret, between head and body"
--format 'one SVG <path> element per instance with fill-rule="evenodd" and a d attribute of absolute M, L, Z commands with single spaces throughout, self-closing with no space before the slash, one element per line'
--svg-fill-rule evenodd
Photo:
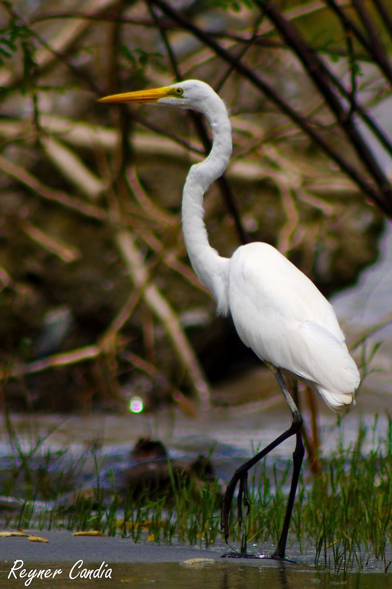
<path fill-rule="evenodd" d="M 209 186 L 222 176 L 232 154 L 232 128 L 223 101 L 218 95 L 203 114 L 212 128 L 213 144 L 209 156 L 189 170 L 182 196 L 182 229 L 190 263 L 200 282 L 212 292 L 217 311 L 229 309 L 229 259 L 219 256 L 210 246 L 203 221 L 203 196 Z"/>

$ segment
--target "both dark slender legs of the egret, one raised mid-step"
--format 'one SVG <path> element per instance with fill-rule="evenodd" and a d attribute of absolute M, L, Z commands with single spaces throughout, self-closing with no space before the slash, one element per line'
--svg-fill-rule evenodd
<path fill-rule="evenodd" d="M 289 499 L 287 501 L 287 508 L 286 508 L 286 515 L 284 517 L 282 532 L 280 534 L 280 539 L 277 545 L 276 550 L 273 554 L 270 555 L 259 555 L 256 557 L 252 557 L 248 554 L 237 554 L 237 553 L 230 553 L 224 554 L 223 557 L 230 558 L 274 558 L 275 560 L 284 560 L 284 553 L 286 551 L 286 542 L 287 542 L 287 534 L 289 533 L 290 527 L 290 519 L 292 517 L 294 499 L 296 496 L 297 484 L 299 475 L 301 472 L 301 465 L 304 456 L 304 446 L 302 442 L 301 436 L 301 426 L 303 423 L 303 419 L 300 415 L 300 412 L 297 409 L 296 404 L 293 401 L 292 396 L 290 395 L 289 389 L 287 389 L 286 382 L 284 382 L 284 378 L 282 373 L 279 369 L 275 368 L 275 366 L 270 365 L 267 363 L 267 366 L 273 371 L 277 382 L 279 383 L 280 388 L 282 389 L 282 393 L 284 398 L 286 399 L 287 405 L 289 405 L 290 411 L 292 412 L 293 422 L 289 429 L 286 429 L 283 434 L 278 436 L 271 444 L 266 446 L 261 452 L 253 456 L 250 460 L 239 466 L 236 472 L 227 485 L 225 497 L 223 497 L 223 504 L 222 504 L 222 511 L 220 517 L 220 527 L 225 536 L 225 542 L 229 538 L 229 515 L 230 515 L 230 507 L 233 501 L 234 491 L 236 489 L 237 483 L 239 483 L 239 494 L 238 494 L 238 511 L 239 511 L 239 523 L 242 524 L 242 502 L 244 507 L 248 508 L 249 512 L 249 498 L 247 492 L 247 474 L 257 462 L 262 460 L 264 456 L 269 454 L 274 448 L 282 444 L 284 440 L 290 438 L 292 435 L 296 435 L 296 448 L 294 449 L 293 454 L 293 477 L 292 477 L 292 484 L 290 487 L 290 494 Z"/>

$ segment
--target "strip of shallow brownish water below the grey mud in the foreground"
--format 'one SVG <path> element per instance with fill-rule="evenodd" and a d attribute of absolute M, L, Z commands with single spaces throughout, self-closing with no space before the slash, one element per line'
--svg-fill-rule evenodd
<path fill-rule="evenodd" d="M 0 565 L 0 584 L 4 589 L 16 589 L 25 587 L 24 579 L 15 579 L 12 575 L 8 579 L 11 567 Z M 12 565 L 11 565 L 12 566 Z M 159 589 L 324 589 L 333 585 L 343 586 L 345 589 L 389 589 L 392 583 L 392 575 L 377 573 L 349 573 L 336 575 L 323 571 L 317 571 L 304 565 L 277 564 L 264 562 L 263 565 L 243 564 L 237 562 L 212 562 L 211 564 L 181 564 L 181 563 L 154 563 L 154 564 L 108 564 L 103 570 L 106 574 L 111 568 L 111 578 L 80 578 L 81 568 L 74 568 L 71 577 L 69 563 L 56 564 L 26 564 L 26 570 L 30 571 L 55 568 L 62 573 L 53 578 L 44 580 L 33 579 L 30 587 L 41 589 L 55 587 L 56 589 L 70 587 L 91 587 L 95 581 L 101 589 L 110 587 L 123 589 L 128 586 L 153 585 Z M 98 565 L 83 564 L 88 570 L 95 570 Z M 76 577 L 76 578 L 75 578 Z"/>

